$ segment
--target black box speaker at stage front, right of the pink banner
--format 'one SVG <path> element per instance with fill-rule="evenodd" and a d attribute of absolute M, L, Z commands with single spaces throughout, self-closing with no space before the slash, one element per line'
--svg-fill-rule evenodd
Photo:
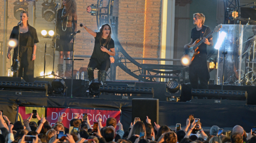
<path fill-rule="evenodd" d="M 139 117 L 140 121 L 146 123 L 146 116 L 158 124 L 159 116 L 159 100 L 158 99 L 133 99 L 132 100 L 132 123 L 135 117 Z"/>

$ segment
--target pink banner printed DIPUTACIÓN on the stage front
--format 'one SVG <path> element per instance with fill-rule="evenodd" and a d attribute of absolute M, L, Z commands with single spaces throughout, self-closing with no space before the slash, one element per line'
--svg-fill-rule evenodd
<path fill-rule="evenodd" d="M 83 119 L 83 114 L 87 114 L 91 126 L 93 122 L 97 122 L 98 118 L 102 118 L 102 126 L 105 126 L 107 118 L 116 118 L 118 122 L 120 120 L 120 111 L 107 111 L 107 110 L 93 110 L 93 109 L 70 109 L 70 108 L 47 108 L 46 120 L 51 125 L 54 125 L 58 121 L 58 117 L 63 114 L 63 124 L 69 128 L 69 122 L 75 116 L 79 114 L 79 119 Z"/>

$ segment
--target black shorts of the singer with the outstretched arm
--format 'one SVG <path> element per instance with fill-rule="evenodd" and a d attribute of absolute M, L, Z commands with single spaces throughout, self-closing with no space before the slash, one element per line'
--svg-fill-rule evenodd
<path fill-rule="evenodd" d="M 105 70 L 108 71 L 108 68 L 110 68 L 110 59 L 108 58 L 105 61 L 98 62 L 95 58 L 90 58 L 90 62 L 88 64 L 88 67 L 92 67 L 93 69 L 99 68 L 99 70 Z"/>

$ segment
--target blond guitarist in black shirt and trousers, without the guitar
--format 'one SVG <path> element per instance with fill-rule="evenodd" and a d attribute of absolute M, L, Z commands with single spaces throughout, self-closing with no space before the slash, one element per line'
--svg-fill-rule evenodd
<path fill-rule="evenodd" d="M 189 44 L 186 44 L 184 48 L 188 48 L 187 46 L 193 44 L 196 39 L 201 37 L 201 34 L 204 35 L 202 43 L 197 52 L 198 55 L 195 56 L 192 63 L 189 65 L 189 80 L 192 85 L 192 88 L 198 88 L 198 79 L 201 84 L 201 89 L 208 89 L 208 81 L 210 79 L 210 74 L 207 67 L 207 46 L 213 46 L 213 36 L 205 38 L 211 32 L 211 29 L 208 26 L 204 26 L 205 16 L 202 13 L 193 14 L 193 24 L 196 25 L 195 28 L 191 31 L 191 41 Z"/>

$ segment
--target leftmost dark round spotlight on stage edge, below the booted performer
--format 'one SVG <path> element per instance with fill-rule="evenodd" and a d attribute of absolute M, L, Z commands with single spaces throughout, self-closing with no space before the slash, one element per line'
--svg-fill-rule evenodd
<path fill-rule="evenodd" d="M 54 79 L 52 81 L 52 92 L 55 94 L 62 94 L 64 96 L 66 92 L 66 84 L 63 79 Z"/>

